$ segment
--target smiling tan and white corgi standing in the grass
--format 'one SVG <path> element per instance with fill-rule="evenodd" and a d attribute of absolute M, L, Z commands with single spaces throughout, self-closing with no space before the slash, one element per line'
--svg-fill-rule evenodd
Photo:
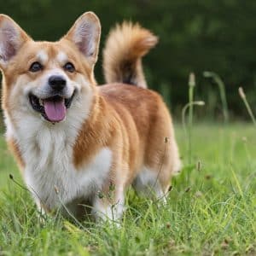
<path fill-rule="evenodd" d="M 158 39 L 125 22 L 103 51 L 107 84 L 94 77 L 101 24 L 81 15 L 57 42 L 36 42 L 0 15 L 6 139 L 38 208 L 119 219 L 125 190 L 166 200 L 180 170 L 171 115 L 147 89 L 142 57 Z M 111 195 L 111 196 L 110 196 Z"/>

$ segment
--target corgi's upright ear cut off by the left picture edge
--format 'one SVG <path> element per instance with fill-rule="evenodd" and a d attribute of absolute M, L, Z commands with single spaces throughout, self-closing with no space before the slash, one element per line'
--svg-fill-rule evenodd
<path fill-rule="evenodd" d="M 14 20 L 7 15 L 0 15 L 0 67 L 7 67 L 11 58 L 29 39 Z"/>

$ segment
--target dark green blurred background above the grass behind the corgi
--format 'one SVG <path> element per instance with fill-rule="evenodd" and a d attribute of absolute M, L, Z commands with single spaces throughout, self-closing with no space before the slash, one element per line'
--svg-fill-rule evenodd
<path fill-rule="evenodd" d="M 160 91 L 177 119 L 188 102 L 188 77 L 196 76 L 196 99 L 206 102 L 199 119 L 223 119 L 218 86 L 202 76 L 218 73 L 224 80 L 232 119 L 247 119 L 237 89 L 243 86 L 256 110 L 256 1 L 242 0 L 8 0 L 0 12 L 10 15 L 32 38 L 57 40 L 84 11 L 102 22 L 96 79 L 102 84 L 102 48 L 110 27 L 138 21 L 160 38 L 144 59 L 150 88 Z"/>

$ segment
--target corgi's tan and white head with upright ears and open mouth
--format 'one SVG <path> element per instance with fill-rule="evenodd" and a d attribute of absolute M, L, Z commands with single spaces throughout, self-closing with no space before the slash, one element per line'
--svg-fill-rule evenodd
<path fill-rule="evenodd" d="M 9 16 L 0 15 L 3 109 L 22 109 L 52 123 L 65 119 L 81 94 L 95 90 L 100 34 L 98 18 L 88 12 L 60 41 L 35 42 Z"/>

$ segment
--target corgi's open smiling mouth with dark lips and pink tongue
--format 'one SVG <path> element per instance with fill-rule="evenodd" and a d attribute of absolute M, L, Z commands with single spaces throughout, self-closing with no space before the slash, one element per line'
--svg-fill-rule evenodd
<path fill-rule="evenodd" d="M 73 96 L 75 91 L 73 92 Z M 32 108 L 41 113 L 44 119 L 49 122 L 61 122 L 66 117 L 67 108 L 70 108 L 73 102 L 73 96 L 64 98 L 62 96 L 52 96 L 46 99 L 39 99 L 37 96 L 30 94 L 29 101 Z"/>

